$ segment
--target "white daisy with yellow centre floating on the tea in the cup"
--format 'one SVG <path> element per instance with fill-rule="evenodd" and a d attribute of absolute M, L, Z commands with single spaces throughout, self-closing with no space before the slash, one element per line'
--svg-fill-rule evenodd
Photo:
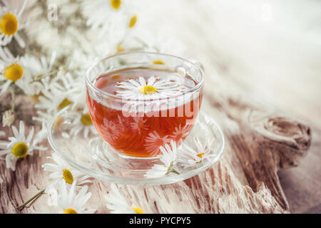
<path fill-rule="evenodd" d="M 116 95 L 133 100 L 157 100 L 182 94 L 178 90 L 179 86 L 179 83 L 170 80 L 169 77 L 151 76 L 148 80 L 139 77 L 136 80 L 128 79 L 118 83 L 117 87 L 122 90 L 117 90 Z"/>

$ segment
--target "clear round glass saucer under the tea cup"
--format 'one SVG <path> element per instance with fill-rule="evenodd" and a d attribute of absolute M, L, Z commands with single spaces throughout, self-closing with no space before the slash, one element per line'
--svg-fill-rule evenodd
<path fill-rule="evenodd" d="M 99 135 L 89 133 L 87 138 L 82 133 L 72 135 L 73 115 L 69 107 L 60 110 L 49 125 L 48 140 L 51 147 L 76 170 L 84 175 L 128 185 L 163 185 L 188 179 L 203 172 L 216 162 L 224 150 L 224 136 L 215 120 L 200 112 L 198 120 L 183 145 L 198 151 L 194 138 L 202 145 L 208 139 L 213 143 L 208 150 L 210 157 L 190 165 L 187 162 L 176 162 L 175 169 L 180 174 L 170 173 L 161 177 L 146 177 L 146 172 L 155 164 L 162 164 L 158 157 L 128 157 L 116 152 Z M 177 155 L 185 146 L 180 145 Z"/>

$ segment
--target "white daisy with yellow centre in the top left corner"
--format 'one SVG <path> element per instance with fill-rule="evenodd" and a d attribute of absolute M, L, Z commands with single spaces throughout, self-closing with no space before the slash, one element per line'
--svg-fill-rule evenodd
<path fill-rule="evenodd" d="M 21 9 L 9 10 L 8 5 L 0 8 L 0 45 L 6 46 L 11 42 L 12 38 L 15 38 L 21 48 L 26 45 L 24 40 L 19 36 L 19 31 L 24 28 L 24 24 L 21 24 L 21 14 L 26 8 L 27 0 L 22 4 Z"/>

